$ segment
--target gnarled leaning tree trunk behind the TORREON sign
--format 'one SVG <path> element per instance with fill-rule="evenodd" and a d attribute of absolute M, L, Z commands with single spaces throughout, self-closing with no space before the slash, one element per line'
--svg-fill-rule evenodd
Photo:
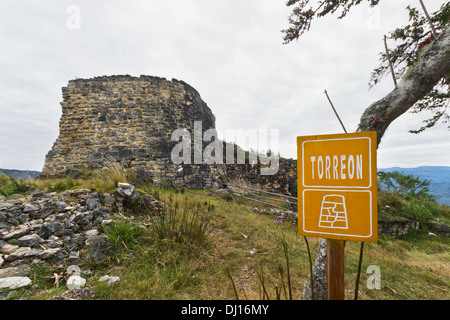
<path fill-rule="evenodd" d="M 408 111 L 422 99 L 443 77 L 450 73 L 450 25 L 422 53 L 398 84 L 384 98 L 374 102 L 362 114 L 357 132 L 376 131 L 377 146 L 392 121 Z M 314 298 L 327 299 L 327 255 L 326 241 L 319 241 L 319 256 L 314 262 Z M 303 299 L 311 299 L 309 280 Z"/>

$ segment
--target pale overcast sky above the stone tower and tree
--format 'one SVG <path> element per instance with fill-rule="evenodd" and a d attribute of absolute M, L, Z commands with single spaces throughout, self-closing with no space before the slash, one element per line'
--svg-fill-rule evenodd
<path fill-rule="evenodd" d="M 425 0 L 430 12 L 443 0 Z M 0 168 L 42 170 L 58 137 L 61 87 L 75 78 L 152 75 L 198 90 L 226 129 L 279 129 L 281 156 L 296 158 L 296 137 L 341 133 L 393 89 L 369 90 L 383 36 L 408 22 L 408 4 L 362 4 L 330 16 L 288 45 L 285 0 L 6 1 L 0 10 Z M 440 124 L 408 133 L 426 115 L 405 114 L 388 128 L 378 167 L 450 165 Z"/>

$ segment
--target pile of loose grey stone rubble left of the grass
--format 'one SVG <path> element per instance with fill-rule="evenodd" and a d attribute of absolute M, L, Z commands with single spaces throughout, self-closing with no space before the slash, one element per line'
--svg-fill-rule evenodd
<path fill-rule="evenodd" d="M 112 194 L 76 189 L 0 201 L 0 296 L 29 286 L 33 264 L 77 265 L 80 253 L 96 263 L 105 261 L 113 247 L 98 227 L 120 218 L 113 206 L 121 209 L 126 201 L 135 200 L 154 211 L 164 210 L 150 195 L 125 183 Z M 109 276 L 102 280 L 119 281 Z"/>

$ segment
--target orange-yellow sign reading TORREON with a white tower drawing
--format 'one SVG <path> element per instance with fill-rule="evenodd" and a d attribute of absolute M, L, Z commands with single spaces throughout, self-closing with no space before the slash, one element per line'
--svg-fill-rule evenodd
<path fill-rule="evenodd" d="M 376 132 L 297 138 L 300 235 L 378 241 L 376 150 Z"/>

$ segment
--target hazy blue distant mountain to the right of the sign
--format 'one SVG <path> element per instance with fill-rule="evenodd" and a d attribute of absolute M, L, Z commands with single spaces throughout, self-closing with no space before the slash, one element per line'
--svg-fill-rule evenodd
<path fill-rule="evenodd" d="M 436 200 L 450 206 L 450 167 L 444 166 L 423 166 L 417 168 L 400 168 L 392 167 L 381 169 L 378 171 L 399 171 L 410 174 L 421 179 L 429 179 L 430 193 L 434 195 Z"/>

